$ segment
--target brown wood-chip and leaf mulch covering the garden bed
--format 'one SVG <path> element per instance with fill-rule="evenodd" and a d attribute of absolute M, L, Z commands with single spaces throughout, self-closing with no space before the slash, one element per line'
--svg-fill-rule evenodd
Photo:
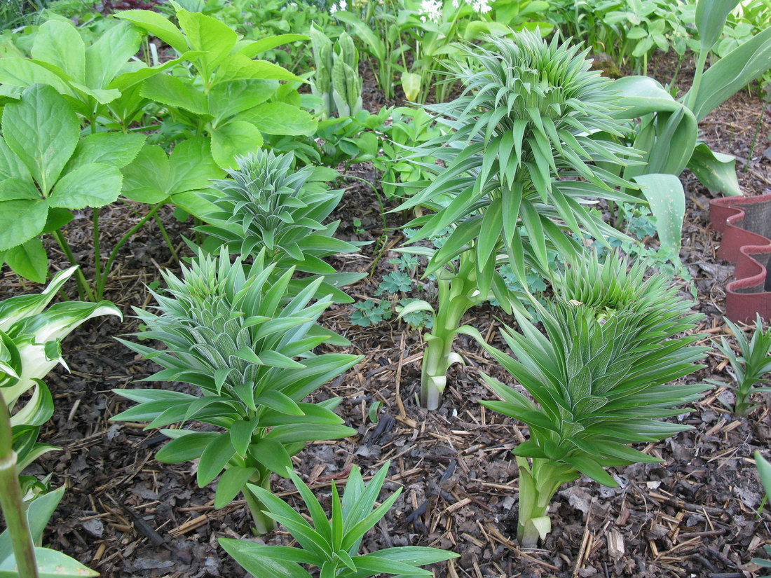
<path fill-rule="evenodd" d="M 668 79 L 667 62 L 655 73 Z M 681 74 L 685 74 L 682 72 Z M 371 77 L 365 94 L 377 108 L 384 101 Z M 771 119 L 766 116 L 750 155 L 763 104 L 756 94 L 742 92 L 702 123 L 704 139 L 715 150 L 739 157 L 739 180 L 748 195 L 769 190 Z M 751 157 L 751 158 L 750 158 Z M 746 170 L 745 170 L 746 167 Z M 349 170 L 373 180 L 368 166 Z M 702 330 L 722 334 L 723 290 L 731 267 L 715 259 L 719 238 L 709 227 L 710 194 L 689 173 L 683 176 L 688 199 L 682 259 L 699 291 L 697 308 L 706 315 Z M 104 211 L 103 242 L 109 247 L 133 223 L 125 207 Z M 377 205 L 369 187 L 353 184 L 338 208 L 342 235 L 355 236 L 352 220 L 362 220 L 367 240 L 381 237 Z M 399 224 L 389 217 L 390 225 Z M 183 247 L 186 225 L 171 212 L 163 214 L 173 242 Z M 93 258 L 89 247 L 89 219 L 76 220 L 68 230 L 79 259 Z M 399 242 L 389 232 L 387 247 Z M 348 271 L 369 271 L 372 244 L 338 265 Z M 58 267 L 66 260 L 51 247 Z M 385 251 L 375 274 L 350 288 L 357 298 L 372 296 L 382 274 L 392 270 Z M 150 223 L 123 250 L 106 297 L 126 315 L 132 306 L 150 304 L 145 285 L 157 281 L 158 267 L 174 267 L 157 226 Z M 86 271 L 89 274 L 89 271 Z M 74 286 L 74 284 L 73 284 Z M 70 287 L 72 289 L 73 287 Z M 0 297 L 33 291 L 12 274 L 0 280 Z M 311 445 L 295 463 L 322 501 L 333 479 L 345 479 L 352 464 L 371 474 L 385 460 L 392 462 L 386 490 L 404 486 L 402 497 L 363 547 L 421 544 L 453 549 L 461 557 L 436 569 L 443 578 L 496 576 L 685 576 L 740 578 L 756 576 L 749 563 L 771 542 L 768 509 L 756 513 L 761 500 L 759 482 L 750 461 L 756 449 L 766 449 L 771 437 L 771 402 L 749 418 L 732 418 L 713 391 L 685 422 L 694 426 L 649 450 L 665 459 L 660 465 L 620 469 L 618 489 L 581 479 L 555 496 L 551 509 L 554 531 L 541 549 L 523 551 L 516 533 L 517 477 L 510 449 L 524 441 L 522 428 L 477 402 L 491 398 L 480 385 L 478 370 L 496 371 L 476 344 L 459 338 L 457 351 L 465 368 L 453 369 L 446 400 L 436 412 L 416 404 L 419 363 L 423 346 L 419 334 L 397 322 L 375 328 L 351 326 L 350 306 L 333 307 L 325 322 L 348 337 L 352 353 L 364 361 L 344 378 L 322 388 L 319 398 L 340 395 L 340 411 L 359 435 L 342 442 Z M 500 311 L 479 307 L 464 320 L 496 343 Z M 505 317 L 503 318 L 505 321 Z M 195 465 L 164 465 L 153 459 L 163 443 L 141 424 L 113 423 L 110 417 L 126 408 L 113 388 L 141 387 L 133 381 L 149 375 L 152 365 L 123 348 L 113 337 L 130 333 L 136 323 L 126 318 L 97 320 L 74 332 L 66 342 L 72 369 L 52 371 L 47 378 L 55 395 L 56 415 L 42 441 L 62 448 L 39 459 L 29 472 L 52 472 L 55 486 L 68 490 L 56 511 L 45 542 L 62 549 L 107 578 L 231 578 L 244 576 L 217 547 L 220 536 L 245 537 L 249 520 L 242 502 L 221 510 L 213 507 L 211 487 L 198 489 Z M 709 368 L 689 378 L 727 380 L 726 361 L 709 356 Z M 367 418 L 372 402 L 383 403 L 379 422 Z M 278 480 L 281 496 L 298 506 L 291 486 Z M 271 543 L 287 543 L 277 532 Z M 260 578 L 259 576 L 257 578 Z"/>

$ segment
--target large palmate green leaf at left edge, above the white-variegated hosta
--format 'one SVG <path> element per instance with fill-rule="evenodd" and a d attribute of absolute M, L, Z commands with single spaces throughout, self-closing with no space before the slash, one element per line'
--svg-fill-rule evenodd
<path fill-rule="evenodd" d="M 81 138 L 69 101 L 49 85 L 32 85 L 8 102 L 0 141 L 0 251 L 13 271 L 45 281 L 37 237 L 63 227 L 72 210 L 113 203 L 123 186 L 120 168 L 145 139 L 124 133 Z"/>

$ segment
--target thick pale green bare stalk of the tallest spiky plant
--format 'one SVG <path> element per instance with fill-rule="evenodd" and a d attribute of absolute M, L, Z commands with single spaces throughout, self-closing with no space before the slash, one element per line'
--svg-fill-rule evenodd
<path fill-rule="evenodd" d="M 445 271 L 437 271 L 439 304 L 434 326 L 424 336 L 426 350 L 420 370 L 420 405 L 436 409 L 442 402 L 447 385 L 447 371 L 460 356 L 453 352 L 455 334 L 460 320 L 471 307 L 484 301 L 476 295 L 476 252 L 467 250 L 460 255 L 460 267 L 456 274 L 442 278 Z"/>

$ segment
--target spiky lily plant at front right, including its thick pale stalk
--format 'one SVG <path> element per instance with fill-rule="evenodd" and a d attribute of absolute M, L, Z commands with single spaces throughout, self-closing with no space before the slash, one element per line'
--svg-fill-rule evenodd
<path fill-rule="evenodd" d="M 572 284 L 545 307 L 534 302 L 545 336 L 518 315 L 521 333 L 502 331 L 513 355 L 466 329 L 530 394 L 483 375 L 502 401 L 481 403 L 530 430 L 530 439 L 513 449 L 520 472 L 517 538 L 524 546 L 535 546 L 550 532 L 549 503 L 564 483 L 584 474 L 614 487 L 618 482 L 606 467 L 660 462 L 629 444 L 658 442 L 690 429 L 659 419 L 686 412 L 682 405 L 709 387 L 670 383 L 703 367 L 696 363 L 708 348 L 694 345 L 702 336 L 682 335 L 701 316 L 688 313 L 689 303 L 661 274 L 641 281 L 633 270 L 615 284 L 603 275 L 626 269 L 624 260 L 612 264 L 615 259 L 604 267 L 579 265 L 574 281 L 592 271 L 599 278 Z"/>

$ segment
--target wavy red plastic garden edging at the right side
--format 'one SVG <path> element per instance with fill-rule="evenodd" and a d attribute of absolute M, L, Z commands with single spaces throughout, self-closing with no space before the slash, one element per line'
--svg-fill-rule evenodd
<path fill-rule="evenodd" d="M 709 201 L 709 220 L 723 234 L 717 256 L 736 263 L 726 287 L 726 317 L 771 321 L 771 193 Z"/>

